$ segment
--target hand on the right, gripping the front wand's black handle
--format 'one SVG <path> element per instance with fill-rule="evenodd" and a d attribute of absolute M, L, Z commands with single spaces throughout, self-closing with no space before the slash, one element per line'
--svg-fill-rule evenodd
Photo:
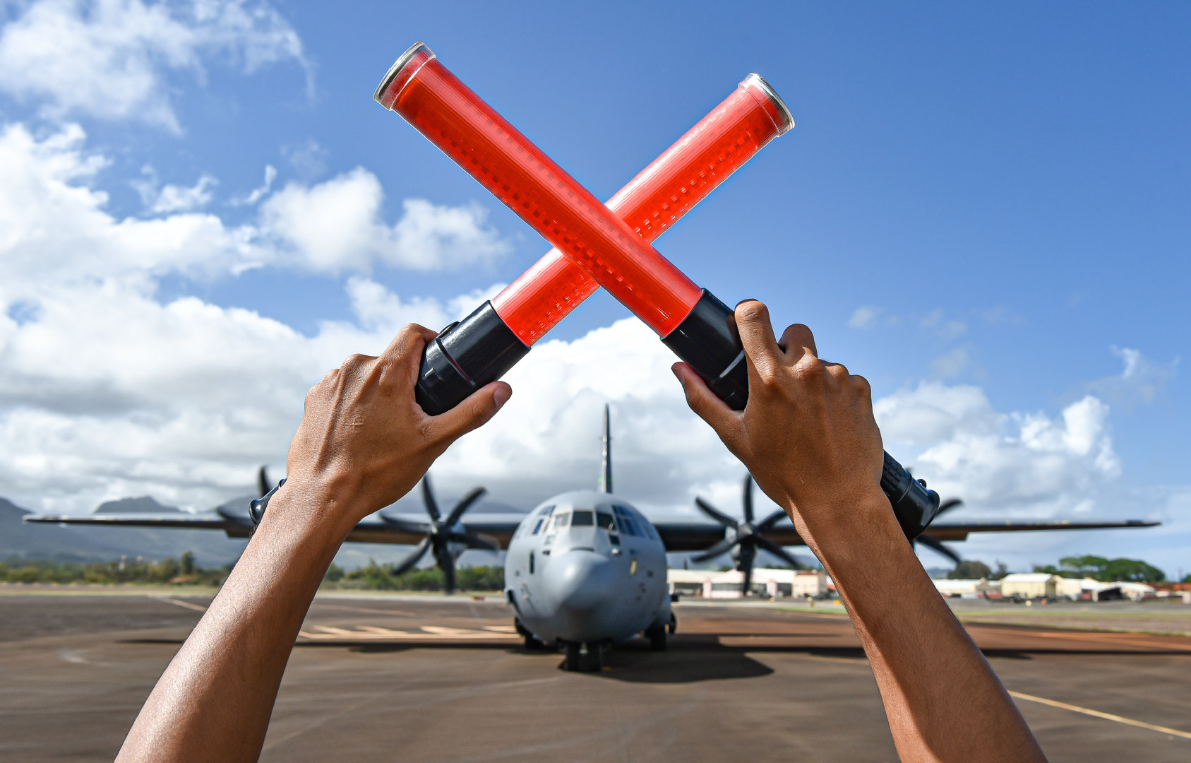
<path fill-rule="evenodd" d="M 736 327 L 748 362 L 748 405 L 731 410 L 692 368 L 675 364 L 691 409 L 786 509 L 807 542 L 848 534 L 842 522 L 859 517 L 858 507 L 884 502 L 892 517 L 880 490 L 881 434 L 868 382 L 819 360 L 805 325 L 787 328 L 779 345 L 760 302 L 736 306 Z"/>

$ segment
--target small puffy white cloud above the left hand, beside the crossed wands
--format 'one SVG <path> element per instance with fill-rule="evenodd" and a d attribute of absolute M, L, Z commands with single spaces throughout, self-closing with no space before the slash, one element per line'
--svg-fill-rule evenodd
<path fill-rule="evenodd" d="M 417 271 L 491 262 L 510 247 L 478 205 L 406 199 L 394 225 L 381 218 L 380 180 L 362 167 L 325 182 L 288 184 L 261 205 L 261 225 L 294 262 L 317 272 L 368 271 L 374 261 Z"/>

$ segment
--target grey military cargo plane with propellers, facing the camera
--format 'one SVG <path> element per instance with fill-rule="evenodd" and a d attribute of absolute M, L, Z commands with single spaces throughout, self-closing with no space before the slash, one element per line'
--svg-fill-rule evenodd
<path fill-rule="evenodd" d="M 416 566 L 428 552 L 444 572 L 448 593 L 455 590 L 455 563 L 468 548 L 506 550 L 505 596 L 515 613 L 517 632 L 526 649 L 561 647 L 568 670 L 599 670 L 604 651 L 638 634 L 655 650 L 666 649 L 676 627 L 666 583 L 667 553 L 694 552 L 693 562 L 729 554 L 744 573 L 742 591 L 752 591 L 753 566 L 766 551 L 793 567 L 803 566 L 787 546 L 805 545 L 785 511 L 761 521 L 753 513 L 753 482 L 744 477 L 743 519 L 716 509 L 703 498 L 696 505 L 709 522 L 653 521 L 612 492 L 611 421 L 604 408 L 604 453 L 598 490 L 554 496 L 524 515 L 463 515 L 485 494 L 476 488 L 443 516 L 430 485 L 422 480 L 429 521 L 381 510 L 366 517 L 348 535 L 354 542 L 413 545 L 395 569 Z M 270 489 L 264 467 L 261 495 Z M 132 527 L 222 529 L 231 538 L 248 538 L 254 525 L 249 498 L 230 501 L 204 514 L 31 515 L 26 522 Z M 960 505 L 947 501 L 939 514 Z M 474 515 L 476 516 L 476 515 Z M 1140 520 L 1102 522 L 940 522 L 915 542 L 959 564 L 960 556 L 943 541 L 966 540 L 971 533 L 1152 527 Z"/>

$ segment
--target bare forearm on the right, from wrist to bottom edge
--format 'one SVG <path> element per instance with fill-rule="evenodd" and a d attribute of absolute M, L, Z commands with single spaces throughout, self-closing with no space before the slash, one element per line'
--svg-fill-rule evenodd
<path fill-rule="evenodd" d="M 1029 727 L 877 495 L 817 548 L 863 644 L 903 761 L 1045 761 Z"/>

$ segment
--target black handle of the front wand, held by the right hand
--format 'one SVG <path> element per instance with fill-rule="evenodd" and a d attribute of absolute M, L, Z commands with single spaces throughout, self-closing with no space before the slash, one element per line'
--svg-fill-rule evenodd
<path fill-rule="evenodd" d="M 744 408 L 748 366 L 731 308 L 703 290 L 691 314 L 662 342 L 694 368 L 719 399 L 734 410 Z M 915 479 L 888 453 L 881 467 L 881 490 L 910 540 L 921 535 L 939 513 L 939 494 L 927 490 L 927 483 Z"/>

